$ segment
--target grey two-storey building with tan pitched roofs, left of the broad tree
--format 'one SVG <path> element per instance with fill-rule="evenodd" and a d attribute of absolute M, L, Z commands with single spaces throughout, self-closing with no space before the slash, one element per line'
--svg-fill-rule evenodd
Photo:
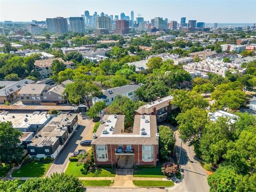
<path fill-rule="evenodd" d="M 46 84 L 33 84 L 23 86 L 18 94 L 25 104 L 57 105 L 65 103 L 64 90 L 65 87 L 61 85 L 49 87 Z"/>

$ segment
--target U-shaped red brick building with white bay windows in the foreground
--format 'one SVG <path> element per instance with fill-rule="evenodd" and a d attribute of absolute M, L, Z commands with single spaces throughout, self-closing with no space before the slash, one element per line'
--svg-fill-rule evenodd
<path fill-rule="evenodd" d="M 158 161 L 156 116 L 135 115 L 132 131 L 124 127 L 124 115 L 105 115 L 92 141 L 95 165 L 133 168 Z"/>

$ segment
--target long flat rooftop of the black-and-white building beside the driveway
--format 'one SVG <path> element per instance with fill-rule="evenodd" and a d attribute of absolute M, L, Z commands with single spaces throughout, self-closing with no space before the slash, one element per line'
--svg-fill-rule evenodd
<path fill-rule="evenodd" d="M 66 133 L 76 114 L 61 113 L 53 117 L 31 140 L 30 146 L 52 146 Z"/>

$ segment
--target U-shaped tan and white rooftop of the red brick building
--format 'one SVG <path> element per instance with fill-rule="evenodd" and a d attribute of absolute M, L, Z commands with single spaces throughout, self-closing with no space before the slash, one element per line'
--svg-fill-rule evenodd
<path fill-rule="evenodd" d="M 135 115 L 132 133 L 124 133 L 124 115 L 105 115 L 93 145 L 158 145 L 154 115 Z"/>

